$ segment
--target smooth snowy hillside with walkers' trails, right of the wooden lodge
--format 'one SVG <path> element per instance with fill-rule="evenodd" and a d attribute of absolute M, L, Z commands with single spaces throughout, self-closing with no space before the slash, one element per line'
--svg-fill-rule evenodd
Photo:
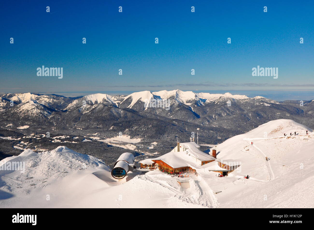
<path fill-rule="evenodd" d="M 219 207 L 314 207 L 314 132 L 308 127 L 273 120 L 216 149 L 217 158 L 241 165 L 228 177 L 203 175 L 214 191 L 222 191 L 216 195 Z"/>

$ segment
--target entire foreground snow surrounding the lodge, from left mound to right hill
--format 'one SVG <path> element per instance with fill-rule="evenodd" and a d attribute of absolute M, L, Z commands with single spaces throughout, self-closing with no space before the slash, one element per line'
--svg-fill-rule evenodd
<path fill-rule="evenodd" d="M 117 181 L 98 158 L 64 146 L 41 153 L 27 149 L 0 161 L 0 168 L 8 161 L 25 162 L 26 167 L 24 173 L 0 170 L 0 208 L 314 207 L 314 132 L 306 126 L 273 120 L 216 149 L 217 158 L 241 166 L 226 177 L 217 177 L 208 171 L 216 162 L 205 164 L 197 169 L 198 176 L 184 178 L 190 186 L 187 189 L 180 187 L 177 178 L 158 170 L 133 171 Z M 246 175 L 250 179 L 244 179 Z"/>

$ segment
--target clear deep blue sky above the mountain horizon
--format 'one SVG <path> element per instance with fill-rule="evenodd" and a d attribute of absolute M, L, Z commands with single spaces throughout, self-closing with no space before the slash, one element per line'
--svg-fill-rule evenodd
<path fill-rule="evenodd" d="M 313 1 L 2 1 L 0 93 L 311 92 L 313 6 Z M 63 67 L 63 78 L 38 77 L 43 65 Z M 253 77 L 258 65 L 278 67 L 278 79 Z"/>

